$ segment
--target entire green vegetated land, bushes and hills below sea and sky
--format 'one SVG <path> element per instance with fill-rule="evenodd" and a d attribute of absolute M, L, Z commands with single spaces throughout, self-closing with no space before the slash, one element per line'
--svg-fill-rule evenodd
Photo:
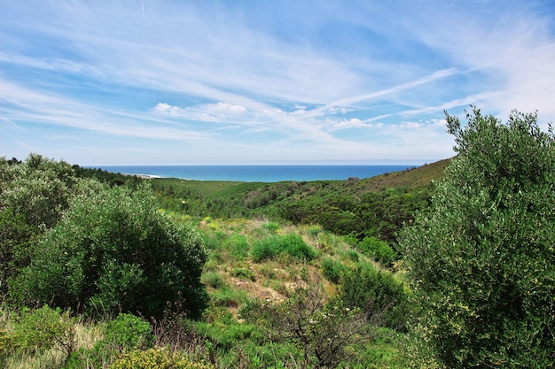
<path fill-rule="evenodd" d="M 457 158 L 363 180 L 0 158 L 0 366 L 552 367 L 554 135 L 467 118 Z"/>

